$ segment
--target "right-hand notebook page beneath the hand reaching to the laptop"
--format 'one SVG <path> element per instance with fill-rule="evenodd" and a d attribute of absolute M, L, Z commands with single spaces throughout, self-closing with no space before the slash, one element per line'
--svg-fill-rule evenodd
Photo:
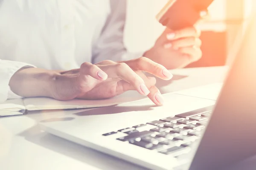
<path fill-rule="evenodd" d="M 79 108 L 98 108 L 121 103 L 118 98 L 102 100 L 81 100 L 73 99 L 70 101 L 59 101 L 46 97 L 26 98 L 23 100 L 26 110 L 56 110 L 56 109 L 79 109 Z"/>

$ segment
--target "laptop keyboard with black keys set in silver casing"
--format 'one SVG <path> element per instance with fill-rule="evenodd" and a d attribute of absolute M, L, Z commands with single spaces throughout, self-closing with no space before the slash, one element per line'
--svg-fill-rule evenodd
<path fill-rule="evenodd" d="M 213 106 L 209 106 L 105 133 L 103 136 L 123 133 L 124 136 L 116 140 L 177 157 L 188 153 L 190 145 L 200 138 L 212 109 Z"/>

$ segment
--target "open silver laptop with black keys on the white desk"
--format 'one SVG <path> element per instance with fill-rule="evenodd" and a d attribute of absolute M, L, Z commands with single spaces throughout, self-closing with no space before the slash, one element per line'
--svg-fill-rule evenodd
<path fill-rule="evenodd" d="M 43 121 L 41 128 L 151 170 L 224 170 L 256 155 L 254 20 L 217 101 L 164 94 L 162 107 L 143 99 Z"/>

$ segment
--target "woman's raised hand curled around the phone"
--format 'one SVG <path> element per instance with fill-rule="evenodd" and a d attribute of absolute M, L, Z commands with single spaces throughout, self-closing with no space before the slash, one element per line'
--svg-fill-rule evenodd
<path fill-rule="evenodd" d="M 183 68 L 202 56 L 201 32 L 195 27 L 172 31 L 169 28 L 144 56 L 168 69 Z"/>

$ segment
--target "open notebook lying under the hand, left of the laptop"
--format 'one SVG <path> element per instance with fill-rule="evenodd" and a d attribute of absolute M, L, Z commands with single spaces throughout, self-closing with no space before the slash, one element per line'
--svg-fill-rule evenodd
<path fill-rule="evenodd" d="M 73 99 L 70 101 L 59 101 L 45 97 L 9 99 L 0 103 L 0 116 L 22 115 L 25 111 L 98 108 L 116 105 L 121 102 L 118 98 L 102 100 Z"/>

